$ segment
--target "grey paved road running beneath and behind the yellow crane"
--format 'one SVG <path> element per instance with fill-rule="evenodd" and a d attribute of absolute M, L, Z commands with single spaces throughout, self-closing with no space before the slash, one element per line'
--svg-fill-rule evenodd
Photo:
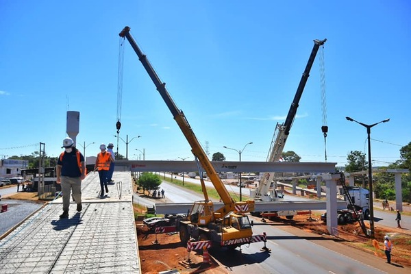
<path fill-rule="evenodd" d="M 166 201 L 170 203 L 203 199 L 202 195 L 186 192 L 168 182 L 162 182 L 160 187 L 165 190 Z M 158 200 L 163 201 L 165 199 Z M 264 246 L 262 242 L 244 245 L 241 251 L 236 249 L 232 253 L 213 250 L 212 256 L 232 273 L 407 273 L 405 269 L 385 264 L 382 258 L 334 240 L 282 223 L 261 223 L 260 218 L 251 219 L 255 223 L 253 234 L 266 232 L 266 247 L 271 252 L 260 250 Z"/>

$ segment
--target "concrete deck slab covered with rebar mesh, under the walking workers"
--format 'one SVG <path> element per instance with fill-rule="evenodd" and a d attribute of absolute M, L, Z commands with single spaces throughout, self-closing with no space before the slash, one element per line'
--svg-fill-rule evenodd
<path fill-rule="evenodd" d="M 99 198 L 99 177 L 82 182 L 82 212 L 71 204 L 59 219 L 55 199 L 0 241 L 0 273 L 140 273 L 132 205 L 132 179 L 114 173 L 109 195 Z M 121 183 L 119 183 L 121 182 Z"/>

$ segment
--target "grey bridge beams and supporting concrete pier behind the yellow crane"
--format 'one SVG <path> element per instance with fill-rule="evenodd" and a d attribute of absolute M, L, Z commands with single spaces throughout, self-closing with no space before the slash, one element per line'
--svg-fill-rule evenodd
<path fill-rule="evenodd" d="M 336 171 L 336 163 L 332 162 L 228 162 L 228 161 L 212 161 L 214 169 L 218 173 L 222 172 L 296 172 L 296 173 L 314 173 L 317 175 L 317 185 L 321 179 L 325 181 L 327 201 L 319 203 L 300 203 L 299 210 L 327 210 L 327 229 L 330 234 L 336 232 L 337 228 L 337 209 L 345 208 L 345 204 L 337 203 L 337 182 L 340 179 L 340 174 L 334 174 Z M 200 170 L 199 167 L 200 166 Z M 192 171 L 205 172 L 201 165 L 197 165 L 195 161 L 140 161 L 140 160 L 118 160 L 116 161 L 116 171 L 132 171 L 132 172 L 171 172 L 171 173 L 188 173 Z M 321 177 L 321 179 L 320 179 Z M 321 191 L 321 188 L 319 189 Z M 269 208 L 270 210 L 295 210 L 298 203 L 288 203 L 280 206 L 281 202 L 266 202 L 264 206 L 262 203 L 256 203 L 256 210 L 260 211 L 260 207 Z M 186 206 L 168 204 L 159 206 L 158 210 L 162 208 L 161 212 L 176 213 L 178 210 L 187 212 Z M 262 208 L 261 208 L 262 209 Z M 262 210 L 261 210 L 262 211 Z M 159 211 L 160 212 L 160 211 Z"/>

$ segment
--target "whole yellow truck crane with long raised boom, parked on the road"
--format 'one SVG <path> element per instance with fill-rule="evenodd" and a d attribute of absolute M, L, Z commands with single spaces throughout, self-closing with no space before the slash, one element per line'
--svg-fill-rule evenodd
<path fill-rule="evenodd" d="M 247 200 L 236 202 L 229 196 L 229 192 L 225 188 L 218 173 L 216 173 L 214 166 L 212 166 L 210 160 L 208 160 L 207 154 L 203 151 L 203 148 L 192 131 L 186 116 L 182 110 L 177 108 L 177 105 L 166 90 L 166 84 L 161 82 L 157 73 L 155 73 L 151 66 L 151 63 L 147 60 L 147 56 L 142 53 L 129 31 L 130 27 L 125 27 L 120 32 L 119 36 L 127 38 L 138 55 L 138 59 L 142 63 L 142 66 L 144 66 L 149 77 L 151 77 L 151 80 L 171 111 L 177 125 L 190 144 L 197 165 L 199 165 L 199 163 L 201 164 L 214 188 L 221 197 L 221 201 L 223 201 L 223 206 L 218 210 L 214 210 L 212 201 L 208 199 L 206 185 L 204 184 L 203 178 L 200 177 L 204 200 L 196 201 L 188 212 L 187 218 L 179 221 L 177 224 L 179 238 L 182 244 L 186 245 L 188 240 L 192 238 L 194 240 L 210 240 L 213 245 L 234 249 L 250 242 L 265 242 L 264 236 L 253 236 L 251 229 L 253 222 L 250 222 L 246 215 L 247 212 L 254 210 L 254 201 Z M 202 173 L 200 172 L 200 174 Z"/>

